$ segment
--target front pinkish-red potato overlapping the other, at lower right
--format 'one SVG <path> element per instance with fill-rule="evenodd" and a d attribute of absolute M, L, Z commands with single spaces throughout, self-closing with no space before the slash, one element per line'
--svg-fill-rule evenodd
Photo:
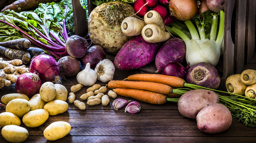
<path fill-rule="evenodd" d="M 227 130 L 232 123 L 229 109 L 220 103 L 204 107 L 196 117 L 197 127 L 200 131 L 217 134 Z"/>

